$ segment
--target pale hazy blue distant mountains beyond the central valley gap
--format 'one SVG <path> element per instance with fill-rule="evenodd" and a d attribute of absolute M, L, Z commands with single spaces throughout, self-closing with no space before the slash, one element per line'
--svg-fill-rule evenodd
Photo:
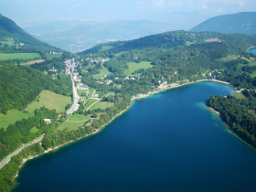
<path fill-rule="evenodd" d="M 55 31 L 48 34 L 41 33 L 42 35 L 34 37 L 58 48 L 71 52 L 80 52 L 84 49 L 92 48 L 99 43 L 134 39 L 173 29 L 174 27 L 171 24 L 156 21 L 115 20 L 107 23 L 87 22 L 72 27 L 67 31 Z M 28 32 L 32 31 L 28 30 Z"/>

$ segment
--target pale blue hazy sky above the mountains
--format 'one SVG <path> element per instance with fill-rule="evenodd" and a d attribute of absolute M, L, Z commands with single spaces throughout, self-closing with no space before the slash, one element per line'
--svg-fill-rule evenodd
<path fill-rule="evenodd" d="M 256 11 L 256 0 L 0 0 L 0 14 L 16 23 L 150 20 L 153 16 L 176 12 L 211 17 L 251 11 Z"/>

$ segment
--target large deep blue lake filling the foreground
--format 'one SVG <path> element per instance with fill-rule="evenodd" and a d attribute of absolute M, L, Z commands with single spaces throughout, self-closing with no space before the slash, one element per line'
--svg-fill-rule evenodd
<path fill-rule="evenodd" d="M 101 133 L 28 161 L 15 191 L 256 191 L 256 151 L 204 105 L 232 92 L 201 82 L 134 101 Z"/>

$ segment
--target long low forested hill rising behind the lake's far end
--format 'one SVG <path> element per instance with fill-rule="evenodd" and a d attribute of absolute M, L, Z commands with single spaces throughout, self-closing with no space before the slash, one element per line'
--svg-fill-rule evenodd
<path fill-rule="evenodd" d="M 206 42 L 207 39 L 221 39 L 220 42 Z M 127 62 L 150 61 L 154 68 L 147 69 L 141 80 L 158 84 L 165 80 L 194 80 L 208 69 L 221 69 L 223 62 L 218 59 L 229 55 L 242 55 L 247 48 L 256 45 L 256 37 L 243 34 L 226 35 L 217 32 L 167 32 L 143 37 L 132 41 L 101 44 L 80 53 L 94 58 L 111 58 L 104 66 L 116 77 L 125 75 Z M 102 48 L 111 47 L 101 51 Z M 173 74 L 176 73 L 175 78 Z"/>

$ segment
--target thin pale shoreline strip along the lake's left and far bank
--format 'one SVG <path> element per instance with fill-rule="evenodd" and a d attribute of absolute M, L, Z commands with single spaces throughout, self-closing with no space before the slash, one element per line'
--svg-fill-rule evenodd
<path fill-rule="evenodd" d="M 42 155 L 45 155 L 45 154 L 48 154 L 50 152 L 54 152 L 55 150 L 59 149 L 61 146 L 64 146 L 64 145 L 67 145 L 67 144 L 70 144 L 70 143 L 74 143 L 76 141 L 79 141 L 80 139 L 84 139 L 88 136 L 91 136 L 93 134 L 96 134 L 96 133 L 99 133 L 101 132 L 101 130 L 106 127 L 107 125 L 109 125 L 110 123 L 112 123 L 118 116 L 121 116 L 124 112 L 127 112 L 129 110 L 129 108 L 131 108 L 132 104 L 133 104 L 133 101 L 135 100 L 141 100 L 141 99 L 145 99 L 151 95 L 155 95 L 155 94 L 158 94 L 159 92 L 162 92 L 162 91 L 167 91 L 167 90 L 171 90 L 171 89 L 175 89 L 175 88 L 179 88 L 179 87 L 182 87 L 182 86 L 185 86 L 185 85 L 189 85 L 189 84 L 195 84 L 195 83 L 198 83 L 198 82 L 202 82 L 202 81 L 215 81 L 215 82 L 219 82 L 219 83 L 222 83 L 222 84 L 226 84 L 226 85 L 229 85 L 229 82 L 225 82 L 225 81 L 221 81 L 221 80 L 197 80 L 195 82 L 187 82 L 187 83 L 184 83 L 184 84 L 177 84 L 177 83 L 172 83 L 172 84 L 165 84 L 165 87 L 158 90 L 158 91 L 149 91 L 147 94 L 139 94 L 138 96 L 133 96 L 132 99 L 131 99 L 131 102 L 130 104 L 128 105 L 128 107 L 126 109 L 124 109 L 122 112 L 119 112 L 118 114 L 116 114 L 115 116 L 112 117 L 112 119 L 108 122 L 108 123 L 105 123 L 105 124 L 102 124 L 101 127 L 99 129 L 97 129 L 95 132 L 93 133 L 90 133 L 90 134 L 87 134 L 83 137 L 80 137 L 76 140 L 71 140 L 65 144 L 60 144 L 54 148 L 49 148 L 48 150 L 45 150 L 44 153 Z M 162 84 L 163 85 L 163 84 Z M 242 140 L 243 141 L 243 140 Z M 251 146 L 252 147 L 252 146 Z M 35 156 L 31 156 L 27 159 L 23 159 L 23 162 L 22 164 L 19 166 L 19 168 L 21 168 L 28 160 L 31 160 L 31 159 L 34 159 L 36 157 L 38 157 L 40 155 L 35 155 Z M 20 169 L 16 172 L 16 176 L 15 178 L 18 176 L 18 173 L 19 173 Z"/>

